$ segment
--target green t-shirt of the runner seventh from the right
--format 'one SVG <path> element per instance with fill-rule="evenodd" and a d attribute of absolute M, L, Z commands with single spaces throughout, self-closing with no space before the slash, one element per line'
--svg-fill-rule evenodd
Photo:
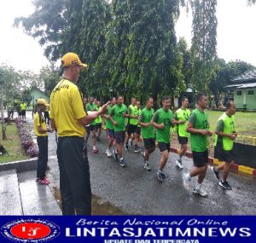
<path fill-rule="evenodd" d="M 128 110 L 127 107 L 122 104 L 121 107 L 118 105 L 114 105 L 111 109 L 110 116 L 113 117 L 113 120 L 116 121 L 118 124 L 113 126 L 114 131 L 125 131 L 125 117 L 123 114 L 127 114 Z"/>

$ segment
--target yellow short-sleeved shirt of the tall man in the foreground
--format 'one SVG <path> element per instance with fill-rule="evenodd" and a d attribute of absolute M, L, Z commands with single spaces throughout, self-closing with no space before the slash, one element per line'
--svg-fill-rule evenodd
<path fill-rule="evenodd" d="M 79 119 L 86 115 L 78 86 L 62 78 L 50 95 L 49 117 L 55 119 L 58 136 L 83 137 L 85 130 Z"/>

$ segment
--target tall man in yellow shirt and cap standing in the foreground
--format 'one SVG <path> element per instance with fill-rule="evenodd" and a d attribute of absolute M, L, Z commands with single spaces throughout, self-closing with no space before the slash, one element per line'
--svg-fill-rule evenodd
<path fill-rule="evenodd" d="M 63 78 L 50 95 L 50 122 L 57 130 L 57 156 L 60 168 L 63 215 L 90 215 L 91 191 L 84 127 L 107 111 L 108 103 L 97 112 L 84 112 L 77 82 L 81 68 L 79 56 L 67 53 L 61 59 Z"/>

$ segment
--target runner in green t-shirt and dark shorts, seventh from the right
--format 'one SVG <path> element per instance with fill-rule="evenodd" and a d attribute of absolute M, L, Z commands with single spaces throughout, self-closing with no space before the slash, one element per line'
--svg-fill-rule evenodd
<path fill-rule="evenodd" d="M 128 117 L 127 107 L 124 105 L 122 95 L 117 97 L 116 104 L 111 109 L 109 119 L 113 123 L 114 137 L 116 141 L 116 149 L 113 150 L 113 158 L 118 160 L 122 167 L 125 167 L 125 159 L 123 158 L 123 146 L 125 142 L 125 118 Z"/>

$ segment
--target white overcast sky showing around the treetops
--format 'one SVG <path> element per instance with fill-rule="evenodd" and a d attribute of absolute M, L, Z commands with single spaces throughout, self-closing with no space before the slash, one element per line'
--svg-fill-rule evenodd
<path fill-rule="evenodd" d="M 16 69 L 39 72 L 48 61 L 36 40 L 22 29 L 13 27 L 15 17 L 32 14 L 31 0 L 1 1 L 0 8 L 0 63 Z M 247 6 L 247 0 L 218 0 L 218 56 L 225 61 L 240 59 L 256 67 L 256 6 Z M 183 9 L 177 22 L 177 38 L 191 40 L 191 13 Z"/>

